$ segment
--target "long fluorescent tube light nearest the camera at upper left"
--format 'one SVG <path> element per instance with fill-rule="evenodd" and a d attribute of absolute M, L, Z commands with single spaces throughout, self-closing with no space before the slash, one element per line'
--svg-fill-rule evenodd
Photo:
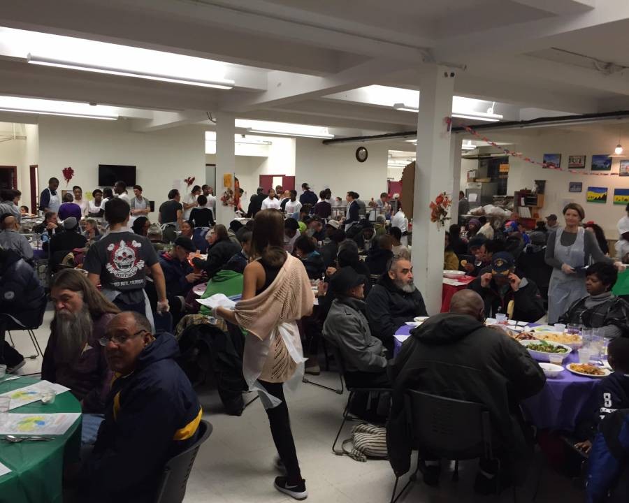
<path fill-rule="evenodd" d="M 57 66 L 59 68 L 70 68 L 72 70 L 92 71 L 96 73 L 107 73 L 108 75 L 122 75 L 124 77 L 143 78 L 147 80 L 159 80 L 161 82 L 173 82 L 175 84 L 213 87 L 215 89 L 231 89 L 235 83 L 233 80 L 229 79 L 201 80 L 196 78 L 180 78 L 175 75 L 164 75 L 161 73 L 138 72 L 126 68 L 114 68 L 111 66 L 101 66 L 76 61 L 64 61 L 61 59 L 37 56 L 36 54 L 29 54 L 27 56 L 27 61 L 32 64 L 43 66 Z"/>

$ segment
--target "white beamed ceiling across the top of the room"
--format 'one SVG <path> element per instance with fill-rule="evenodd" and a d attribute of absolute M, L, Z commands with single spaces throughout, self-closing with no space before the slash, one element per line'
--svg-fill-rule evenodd
<path fill-rule="evenodd" d="M 122 107 L 138 131 L 219 110 L 337 135 L 407 131 L 414 115 L 356 93 L 417 89 L 426 61 L 451 65 L 456 95 L 497 101 L 505 119 L 629 108 L 627 1 L 31 0 L 4 2 L 0 27 L 222 61 L 236 82 L 219 90 L 36 66 L 28 37 L 0 36 L 0 95 Z M 588 57 L 620 66 L 608 74 Z M 160 70 L 174 71 L 173 58 Z"/>

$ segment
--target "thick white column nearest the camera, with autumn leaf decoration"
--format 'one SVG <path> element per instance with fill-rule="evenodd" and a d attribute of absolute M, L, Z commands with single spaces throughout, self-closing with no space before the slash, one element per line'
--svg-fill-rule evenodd
<path fill-rule="evenodd" d="M 412 265 L 414 282 L 432 315 L 441 307 L 444 231 L 449 221 L 438 228 L 431 222 L 429 206 L 438 194 L 450 193 L 454 187 L 450 133 L 444 122 L 452 112 L 454 75 L 447 67 L 426 65 L 419 90 Z"/>

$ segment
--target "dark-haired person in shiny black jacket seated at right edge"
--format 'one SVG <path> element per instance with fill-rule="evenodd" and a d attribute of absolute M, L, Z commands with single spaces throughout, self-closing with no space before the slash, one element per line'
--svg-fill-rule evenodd
<path fill-rule="evenodd" d="M 598 328 L 606 339 L 629 335 L 629 303 L 612 293 L 618 279 L 613 265 L 597 262 L 586 272 L 588 296 L 574 302 L 559 318 L 560 323 L 577 323 L 586 328 Z"/>

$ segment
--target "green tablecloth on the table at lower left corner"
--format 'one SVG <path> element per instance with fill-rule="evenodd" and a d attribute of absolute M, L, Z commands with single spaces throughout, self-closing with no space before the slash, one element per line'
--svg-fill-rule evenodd
<path fill-rule="evenodd" d="M 20 377 L 0 382 L 0 393 L 6 393 L 39 379 Z M 81 406 L 72 393 L 57 395 L 55 403 L 34 402 L 11 412 L 22 414 L 54 414 L 80 412 Z M 65 435 L 48 442 L 20 442 L 10 444 L 0 440 L 0 462 L 11 472 L 0 476 L 0 503 L 62 503 L 62 474 L 64 460 L 78 461 L 81 446 L 81 421 L 75 421 Z"/>

